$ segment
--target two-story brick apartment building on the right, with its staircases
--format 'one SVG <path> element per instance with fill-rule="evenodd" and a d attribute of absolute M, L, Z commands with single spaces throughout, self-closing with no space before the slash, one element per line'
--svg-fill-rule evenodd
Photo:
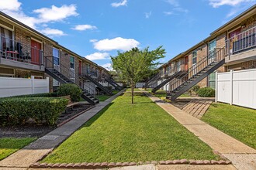
<path fill-rule="evenodd" d="M 215 88 L 215 72 L 256 67 L 256 5 L 159 68 L 157 87 L 175 100 L 195 84 Z M 156 80 L 156 79 L 154 79 Z"/>

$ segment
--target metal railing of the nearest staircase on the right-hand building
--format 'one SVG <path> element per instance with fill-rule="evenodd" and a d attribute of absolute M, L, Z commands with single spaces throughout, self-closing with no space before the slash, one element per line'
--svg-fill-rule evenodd
<path fill-rule="evenodd" d="M 214 49 L 212 53 L 209 53 L 206 57 L 195 63 L 195 65 L 191 66 L 187 73 L 185 73 L 183 76 L 179 77 L 178 79 L 172 80 L 171 82 L 166 84 L 166 87 L 169 86 L 169 88 L 167 88 L 166 90 L 166 93 L 170 93 L 171 91 L 175 90 L 177 87 L 185 83 L 187 80 L 193 78 L 197 73 L 204 70 L 206 66 L 209 66 L 213 63 L 218 63 L 224 58 L 225 47 L 220 49 Z"/>

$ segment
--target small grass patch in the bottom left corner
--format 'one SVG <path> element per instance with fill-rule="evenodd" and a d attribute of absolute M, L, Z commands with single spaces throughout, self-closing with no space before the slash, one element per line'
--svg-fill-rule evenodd
<path fill-rule="evenodd" d="M 0 160 L 35 140 L 36 138 L 0 138 Z"/>

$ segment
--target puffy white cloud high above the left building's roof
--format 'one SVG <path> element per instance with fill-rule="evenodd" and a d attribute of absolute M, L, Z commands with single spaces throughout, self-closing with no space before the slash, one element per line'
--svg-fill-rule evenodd
<path fill-rule="evenodd" d="M 39 8 L 33 10 L 34 13 L 39 15 L 39 19 L 41 22 L 52 22 L 52 21 L 62 21 L 69 16 L 76 16 L 78 13 L 76 12 L 76 5 L 62 5 L 61 7 L 57 7 L 52 5 L 51 8 Z"/>

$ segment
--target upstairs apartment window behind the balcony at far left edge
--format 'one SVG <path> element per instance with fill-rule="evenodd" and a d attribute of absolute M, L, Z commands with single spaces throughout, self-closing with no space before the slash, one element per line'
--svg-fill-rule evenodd
<path fill-rule="evenodd" d="M 13 48 L 13 41 L 12 41 L 12 31 L 9 31 L 8 29 L 4 29 L 0 26 L 0 33 L 1 33 L 1 39 L 0 39 L 0 50 L 14 50 Z"/>

